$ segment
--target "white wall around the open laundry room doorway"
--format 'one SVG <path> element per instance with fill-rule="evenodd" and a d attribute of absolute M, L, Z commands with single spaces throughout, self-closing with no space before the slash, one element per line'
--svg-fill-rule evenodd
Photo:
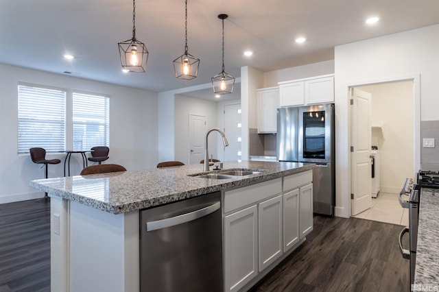
<path fill-rule="evenodd" d="M 335 47 L 336 216 L 351 215 L 348 86 L 420 75 L 420 82 L 414 83 L 414 105 L 406 106 L 420 104 L 415 120 L 417 115 L 422 121 L 438 120 L 438 35 L 439 25 L 432 25 Z M 415 147 L 420 141 L 418 127 L 415 123 Z M 418 167 L 420 154 L 414 152 L 414 167 Z"/>

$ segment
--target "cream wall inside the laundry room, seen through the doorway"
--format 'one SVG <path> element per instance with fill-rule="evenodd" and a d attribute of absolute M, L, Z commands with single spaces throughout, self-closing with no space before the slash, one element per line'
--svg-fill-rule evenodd
<path fill-rule="evenodd" d="M 413 82 L 359 86 L 372 95 L 372 145 L 380 160 L 380 191 L 399 193 L 401 182 L 413 178 Z"/>

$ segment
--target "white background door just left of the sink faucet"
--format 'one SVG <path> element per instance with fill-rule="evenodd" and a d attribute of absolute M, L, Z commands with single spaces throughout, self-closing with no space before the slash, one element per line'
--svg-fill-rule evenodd
<path fill-rule="evenodd" d="M 204 136 L 206 117 L 189 114 L 189 164 L 195 165 L 204 159 Z"/>

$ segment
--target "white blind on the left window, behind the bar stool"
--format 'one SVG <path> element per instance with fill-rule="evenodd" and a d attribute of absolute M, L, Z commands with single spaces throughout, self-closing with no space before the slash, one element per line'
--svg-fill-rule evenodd
<path fill-rule="evenodd" d="M 19 85 L 19 154 L 42 147 L 47 152 L 65 150 L 66 92 Z"/>

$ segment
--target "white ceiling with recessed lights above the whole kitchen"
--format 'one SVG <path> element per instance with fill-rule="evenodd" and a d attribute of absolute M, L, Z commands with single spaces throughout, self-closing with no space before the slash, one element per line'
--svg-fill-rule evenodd
<path fill-rule="evenodd" d="M 146 73 L 121 71 L 117 43 L 132 37 L 131 0 L 1 0 L 0 62 L 157 92 L 207 88 L 222 71 L 221 13 L 229 15 L 225 71 L 239 77 L 241 66 L 266 72 L 333 60 L 336 45 L 439 23 L 439 1 L 188 0 L 189 53 L 200 70 L 185 81 L 172 65 L 185 49 L 184 0 L 136 0 L 136 37 L 150 51 Z M 366 25 L 369 16 L 379 23 Z M 307 41 L 297 44 L 298 36 Z M 211 97 L 210 90 L 198 94 Z"/>

